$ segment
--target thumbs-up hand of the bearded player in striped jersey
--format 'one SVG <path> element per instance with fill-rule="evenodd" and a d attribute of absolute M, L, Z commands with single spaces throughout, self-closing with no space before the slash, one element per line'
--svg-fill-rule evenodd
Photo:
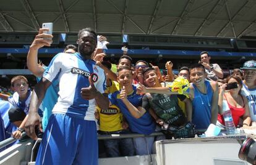
<path fill-rule="evenodd" d="M 93 84 L 91 76 L 89 76 L 88 80 L 89 80 L 90 86 L 89 87 L 83 87 L 81 89 L 81 92 L 80 92 L 81 96 L 85 100 L 95 99 L 96 97 L 98 97 L 100 92 L 97 91 L 95 85 Z"/>

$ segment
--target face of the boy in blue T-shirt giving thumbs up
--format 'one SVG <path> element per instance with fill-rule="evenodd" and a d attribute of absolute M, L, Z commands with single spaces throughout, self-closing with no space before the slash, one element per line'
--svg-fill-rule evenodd
<path fill-rule="evenodd" d="M 118 72 L 117 81 L 121 86 L 131 87 L 132 86 L 132 71 L 123 69 Z"/>

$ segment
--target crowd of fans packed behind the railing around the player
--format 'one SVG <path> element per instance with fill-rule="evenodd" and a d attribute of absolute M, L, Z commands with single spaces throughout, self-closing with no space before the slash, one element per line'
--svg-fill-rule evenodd
<path fill-rule="evenodd" d="M 37 62 L 36 50 L 51 44 L 50 42 L 38 44 L 36 39 L 41 34 L 42 30 L 30 46 L 27 56 L 28 68 L 38 78 L 38 82 L 42 77 L 45 78 L 43 74 L 51 73 L 50 67 Z M 101 41 L 106 41 L 106 38 L 101 36 L 99 42 Z M 91 57 L 95 60 L 97 67 L 104 70 L 106 76 L 106 88 L 104 89 L 109 99 L 109 108 L 102 108 L 102 106 L 95 108 L 98 134 L 137 133 L 143 134 L 145 137 L 103 140 L 99 143 L 99 147 L 102 149 L 104 146 L 102 150 L 106 156 L 147 155 L 152 153 L 153 143 L 156 139 L 194 137 L 194 128 L 207 129 L 210 124 L 224 128 L 223 100 L 228 102 L 236 127 L 256 129 L 256 61 L 245 62 L 241 68 L 234 69 L 232 75 L 223 79 L 221 67 L 217 63 L 210 63 L 210 54 L 205 51 L 198 55 L 198 63 L 191 66 L 180 65 L 179 74 L 175 75 L 173 74 L 173 63 L 170 61 L 166 62 L 166 68 L 158 68 L 144 60 L 132 63 L 127 49 L 123 50 L 126 51 L 119 59 L 117 73 L 111 70 L 113 65 L 104 60 L 105 53 L 101 48 L 96 49 Z M 64 54 L 77 54 L 77 51 L 82 50 L 77 50 L 76 46 L 67 46 Z M 50 65 L 54 65 L 54 63 L 50 63 Z M 99 73 L 96 65 L 93 66 L 92 71 Z M 163 73 L 163 69 L 166 70 L 166 73 Z M 92 74 L 88 79 L 90 87 L 95 90 L 96 85 L 94 86 L 93 82 L 100 78 Z M 42 117 L 43 129 L 38 127 L 37 132 L 44 132 L 49 127 L 49 118 L 53 116 L 52 110 L 55 103 L 58 102 L 60 93 L 58 91 L 61 91 L 59 81 L 61 79 L 51 81 L 52 89 L 47 89 L 46 97 L 38 108 L 38 113 Z M 71 80 L 66 79 L 65 81 Z M 180 92 L 173 90 L 176 81 L 183 82 Z M 236 87 L 227 90 L 226 87 L 233 82 L 236 82 Z M 2 89 L 1 99 L 9 101 L 15 107 L 9 111 L 9 119 L 18 128 L 12 132 L 12 136 L 19 139 L 26 122 L 30 121 L 27 118 L 32 91 L 28 89 L 27 79 L 23 76 L 12 78 L 11 86 L 15 93 L 10 92 L 12 95 L 9 96 L 7 94 L 9 91 Z M 90 100 L 87 92 L 85 89 L 81 89 L 82 98 Z M 38 99 L 41 99 L 40 96 Z M 40 113 L 41 110 L 42 113 Z M 163 131 L 166 136 L 147 136 L 158 131 Z M 36 133 L 37 136 L 38 134 Z M 28 135 L 31 136 L 31 134 Z M 43 138 L 46 138 L 45 136 Z"/>

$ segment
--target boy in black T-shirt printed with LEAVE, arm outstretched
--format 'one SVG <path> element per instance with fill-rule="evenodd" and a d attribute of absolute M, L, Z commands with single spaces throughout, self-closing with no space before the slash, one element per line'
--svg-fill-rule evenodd
<path fill-rule="evenodd" d="M 166 87 L 171 83 L 160 83 L 158 75 L 154 68 L 147 68 L 143 72 L 145 84 L 148 87 Z M 156 123 L 161 126 L 168 124 L 169 126 L 185 126 L 187 123 L 186 115 L 181 110 L 178 104 L 178 98 L 186 103 L 187 113 L 192 113 L 192 103 L 185 95 L 164 95 L 164 94 L 150 94 L 147 93 L 143 96 L 142 107 L 150 111 L 151 116 L 155 119 Z M 192 125 L 191 125 L 192 126 Z M 184 127 L 187 129 L 187 127 Z M 193 127 L 192 127 L 193 129 Z M 183 137 L 190 137 L 184 135 Z M 191 135 L 194 137 L 194 134 Z"/>

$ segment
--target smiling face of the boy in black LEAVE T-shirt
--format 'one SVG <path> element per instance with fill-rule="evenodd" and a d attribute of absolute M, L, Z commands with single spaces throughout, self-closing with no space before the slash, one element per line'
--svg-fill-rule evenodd
<path fill-rule="evenodd" d="M 155 70 L 149 70 L 144 73 L 144 82 L 148 87 L 158 87 L 160 84 Z"/>

